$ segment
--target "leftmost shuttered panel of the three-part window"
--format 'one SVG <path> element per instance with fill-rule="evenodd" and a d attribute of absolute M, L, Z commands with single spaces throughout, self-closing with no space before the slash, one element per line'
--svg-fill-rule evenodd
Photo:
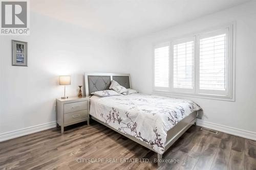
<path fill-rule="evenodd" d="M 155 46 L 154 49 L 154 87 L 169 88 L 169 43 Z"/>

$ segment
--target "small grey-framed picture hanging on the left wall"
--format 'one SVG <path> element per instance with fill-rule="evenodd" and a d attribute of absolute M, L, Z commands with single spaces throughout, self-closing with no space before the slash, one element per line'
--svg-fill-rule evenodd
<path fill-rule="evenodd" d="M 12 65 L 28 66 L 28 43 L 12 40 Z"/>

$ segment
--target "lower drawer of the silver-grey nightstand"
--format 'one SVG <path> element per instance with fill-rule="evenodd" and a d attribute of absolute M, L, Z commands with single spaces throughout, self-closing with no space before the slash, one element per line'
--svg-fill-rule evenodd
<path fill-rule="evenodd" d="M 72 113 L 64 114 L 64 124 L 70 124 L 77 120 L 87 118 L 87 110 L 76 111 Z"/>

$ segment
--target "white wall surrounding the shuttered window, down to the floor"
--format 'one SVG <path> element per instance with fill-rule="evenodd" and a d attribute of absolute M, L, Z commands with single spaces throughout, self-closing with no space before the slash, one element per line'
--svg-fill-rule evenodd
<path fill-rule="evenodd" d="M 237 21 L 236 102 L 187 99 L 195 101 L 203 108 L 204 116 L 202 120 L 198 119 L 199 125 L 256 139 L 256 1 L 130 41 L 133 88 L 143 93 L 152 92 L 154 43 L 234 20 Z"/>

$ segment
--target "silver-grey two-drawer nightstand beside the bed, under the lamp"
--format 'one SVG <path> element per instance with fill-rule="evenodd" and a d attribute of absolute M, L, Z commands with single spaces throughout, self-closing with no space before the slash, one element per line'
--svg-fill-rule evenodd
<path fill-rule="evenodd" d="M 89 125 L 89 102 L 90 98 L 70 97 L 68 99 L 56 99 L 57 102 L 57 126 L 64 127 L 87 121 Z"/>

